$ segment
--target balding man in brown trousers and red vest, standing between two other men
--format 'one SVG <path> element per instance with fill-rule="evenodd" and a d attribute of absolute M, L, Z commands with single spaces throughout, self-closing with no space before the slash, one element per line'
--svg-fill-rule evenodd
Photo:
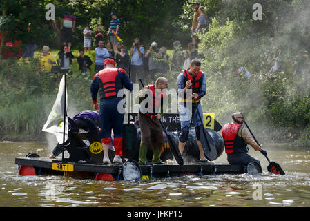
<path fill-rule="evenodd" d="M 152 163 L 162 164 L 160 155 L 162 154 L 164 137 L 159 120 L 164 115 L 163 100 L 166 96 L 166 88 L 168 88 L 168 80 L 165 77 L 159 77 L 155 85 L 149 84 L 139 91 L 138 119 L 141 128 L 139 164 L 151 164 L 146 158 L 148 142 L 153 149 Z"/>

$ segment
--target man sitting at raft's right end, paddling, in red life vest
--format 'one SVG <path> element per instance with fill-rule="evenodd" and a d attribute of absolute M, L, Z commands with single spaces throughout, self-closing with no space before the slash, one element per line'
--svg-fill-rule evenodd
<path fill-rule="evenodd" d="M 260 165 L 260 161 L 251 157 L 247 152 L 247 144 L 250 144 L 255 151 L 260 151 L 263 155 L 267 155 L 260 146 L 249 135 L 246 128 L 244 128 L 244 118 L 242 113 L 237 112 L 231 115 L 233 122 L 225 124 L 222 128 L 222 135 L 224 138 L 225 152 L 227 153 L 227 161 L 229 164 L 248 164 L 255 162 Z"/>

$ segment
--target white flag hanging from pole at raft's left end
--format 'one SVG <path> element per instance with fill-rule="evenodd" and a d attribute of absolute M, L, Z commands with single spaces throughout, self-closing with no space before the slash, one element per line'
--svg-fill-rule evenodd
<path fill-rule="evenodd" d="M 52 111 L 48 115 L 48 120 L 44 124 L 42 131 L 53 133 L 56 136 L 57 142 L 59 144 L 63 143 L 64 140 L 64 85 L 65 78 L 62 77 L 57 98 L 55 100 L 54 106 L 52 106 Z M 68 94 L 66 91 L 66 111 L 68 106 Z M 65 130 L 65 142 L 68 140 L 68 117 L 66 117 L 66 130 Z"/>

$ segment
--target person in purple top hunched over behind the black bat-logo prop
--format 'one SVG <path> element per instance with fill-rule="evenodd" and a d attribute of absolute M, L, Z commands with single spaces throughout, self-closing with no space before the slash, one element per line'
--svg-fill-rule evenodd
<path fill-rule="evenodd" d="M 80 118 L 88 118 L 88 119 L 93 120 L 95 125 L 98 126 L 98 128 L 99 128 L 99 113 L 97 111 L 85 110 L 85 111 L 81 111 L 80 113 L 77 113 L 77 115 L 75 115 L 73 117 L 72 120 L 73 120 L 73 122 L 75 122 L 75 125 L 78 128 L 82 128 L 85 131 L 87 131 L 88 126 L 85 124 L 85 122 L 83 120 L 79 119 L 78 117 L 80 117 Z M 69 129 L 68 133 L 70 133 L 70 131 L 71 131 L 70 123 L 68 123 L 68 129 Z M 65 142 L 65 145 L 68 145 L 69 143 L 70 143 L 70 140 L 68 139 Z M 52 150 L 52 154 L 49 157 L 50 157 L 50 159 L 55 158 L 60 153 L 62 153 L 62 144 L 61 145 L 57 144 L 55 146 L 54 150 Z"/>

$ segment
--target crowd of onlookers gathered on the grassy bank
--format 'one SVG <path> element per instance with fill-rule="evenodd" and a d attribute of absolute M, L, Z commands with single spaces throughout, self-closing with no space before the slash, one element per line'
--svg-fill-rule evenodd
<path fill-rule="evenodd" d="M 195 6 L 196 4 L 197 3 L 195 3 Z M 196 19 L 200 22 L 197 22 L 197 27 L 193 26 L 195 30 L 191 30 L 191 32 L 201 32 L 202 28 L 206 28 L 206 23 L 202 21 L 198 12 L 205 16 L 204 8 L 202 6 L 197 8 L 197 12 L 195 13 L 198 16 Z M 198 54 L 197 43 L 194 40 L 188 43 L 186 50 L 182 50 L 180 41 L 173 42 L 172 61 L 169 59 L 170 57 L 167 54 L 166 47 L 159 47 L 155 41 L 153 41 L 150 46 L 144 46 L 140 43 L 139 38 L 135 38 L 128 52 L 124 44 L 122 44 L 122 40 L 119 41 L 119 26 L 121 23 L 117 18 L 116 12 L 112 12 L 110 16 L 112 19 L 106 32 L 109 41 L 106 42 L 106 44 L 104 44 L 105 31 L 101 24 L 97 25 L 97 30 L 95 30 L 95 32 L 90 29 L 89 24 L 87 24 L 83 30 L 84 48 L 79 49 L 79 57 L 77 57 L 79 70 L 81 70 L 82 73 L 89 72 L 91 70 L 90 67 L 94 63 L 95 67 L 93 70 L 97 73 L 104 68 L 104 59 L 112 58 L 115 60 L 118 68 L 126 70 L 133 82 L 137 82 L 138 79 L 145 79 L 146 77 L 155 80 L 156 73 L 168 73 L 169 71 L 180 71 L 184 68 L 189 68 L 191 59 L 203 57 L 203 55 Z M 41 52 L 39 56 L 41 72 L 72 73 L 70 66 L 75 56 L 72 55 L 70 49 L 75 25 L 75 15 L 66 12 L 61 19 L 61 49 L 57 54 L 58 57 L 57 59 L 52 57 L 49 53 L 49 47 L 43 46 L 43 52 Z M 92 61 L 88 56 L 92 50 L 93 40 L 96 46 L 95 61 Z"/>

